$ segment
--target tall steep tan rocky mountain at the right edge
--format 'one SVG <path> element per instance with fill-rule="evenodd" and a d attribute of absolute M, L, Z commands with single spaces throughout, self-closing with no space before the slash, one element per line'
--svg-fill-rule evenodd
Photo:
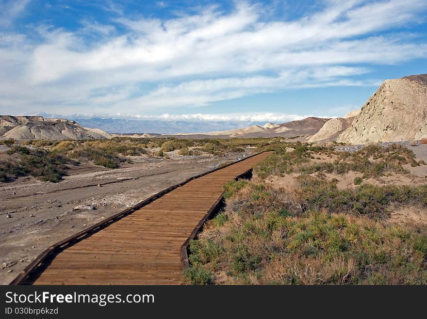
<path fill-rule="evenodd" d="M 337 142 L 411 141 L 427 137 L 427 74 L 386 80 Z"/>

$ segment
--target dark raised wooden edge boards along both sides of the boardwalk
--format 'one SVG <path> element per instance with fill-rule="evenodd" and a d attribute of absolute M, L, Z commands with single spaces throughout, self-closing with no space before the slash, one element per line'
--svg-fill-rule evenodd
<path fill-rule="evenodd" d="M 16 276 L 16 278 L 9 285 L 13 285 L 13 286 L 21 285 L 29 276 L 31 276 L 31 274 L 33 274 L 34 272 L 36 272 L 36 270 L 39 267 L 42 266 L 43 262 L 46 261 L 46 259 L 48 257 L 50 257 L 51 255 L 60 253 L 61 251 L 65 250 L 67 247 L 72 246 L 73 244 L 81 241 L 82 239 L 85 239 L 85 238 L 87 238 L 87 237 L 89 237 L 89 236 L 91 236 L 91 235 L 99 232 L 101 229 L 107 227 L 111 223 L 117 222 L 118 220 L 122 219 L 123 217 L 126 217 L 126 216 L 130 215 L 131 213 L 137 211 L 138 209 L 141 209 L 142 207 L 144 207 L 144 206 L 148 205 L 149 203 L 155 201 L 156 199 L 164 196 L 165 194 L 167 194 L 167 193 L 175 190 L 176 188 L 178 188 L 178 187 L 180 187 L 180 186 L 182 186 L 182 185 L 184 185 L 184 184 L 186 184 L 186 183 L 188 183 L 188 182 L 190 182 L 190 181 L 192 181 L 192 180 L 194 180 L 196 178 L 202 177 L 204 175 L 211 174 L 211 173 L 213 173 L 215 171 L 224 169 L 224 168 L 229 167 L 229 166 L 231 166 L 233 164 L 242 162 L 242 161 L 244 161 L 246 159 L 250 159 L 250 158 L 252 158 L 254 156 L 257 156 L 259 154 L 262 154 L 262 153 L 264 153 L 264 151 L 256 153 L 256 154 L 253 154 L 253 155 L 250 155 L 250 156 L 248 156 L 248 157 L 246 157 L 244 159 L 240 159 L 240 160 L 231 162 L 230 164 L 227 164 L 225 166 L 217 167 L 217 168 L 215 168 L 213 170 L 210 170 L 208 172 L 192 176 L 192 177 L 186 179 L 185 181 L 180 182 L 178 184 L 175 184 L 173 186 L 170 186 L 170 187 L 164 189 L 163 191 L 160 191 L 160 192 L 158 192 L 158 193 L 156 193 L 156 194 L 148 197 L 147 199 L 143 200 L 142 202 L 140 202 L 140 203 L 138 203 L 138 204 L 136 204 L 136 205 L 134 205 L 134 206 L 132 206 L 130 208 L 127 208 L 127 209 L 125 209 L 125 210 L 123 210 L 123 211 L 121 211 L 121 212 L 119 212 L 117 214 L 114 214 L 114 215 L 112 215 L 112 216 L 104 219 L 103 221 L 101 221 L 99 223 L 96 223 L 93 226 L 82 230 L 81 232 L 79 232 L 79 233 L 77 233 L 77 234 L 75 234 L 73 236 L 70 236 L 70 237 L 68 237 L 66 239 L 63 239 L 63 240 L 61 240 L 61 241 L 59 241 L 59 242 L 51 245 L 43 253 L 41 253 L 40 255 L 38 255 L 33 260 L 33 262 L 31 264 L 29 264 L 23 271 L 21 271 Z M 234 179 L 238 179 L 238 178 L 240 178 L 240 176 L 246 175 L 246 174 L 248 174 L 248 172 L 251 172 L 251 171 L 252 171 L 252 169 L 249 169 L 246 172 L 244 172 L 243 174 L 236 176 Z M 193 230 L 193 232 L 190 235 L 190 237 L 192 237 L 192 236 L 193 236 L 193 238 L 196 237 L 196 235 L 199 232 L 199 230 L 201 229 L 203 223 L 206 220 L 208 220 L 210 216 L 213 215 L 213 212 L 214 212 L 215 208 L 217 208 L 219 206 L 222 198 L 223 198 L 223 193 L 220 195 L 220 197 L 215 202 L 215 204 L 205 214 L 205 216 L 202 218 L 202 220 L 197 224 L 196 228 Z M 190 240 L 192 239 L 190 237 L 184 242 L 184 244 L 187 243 L 187 242 L 188 243 L 190 242 Z M 188 243 L 185 246 L 185 255 L 187 255 Z M 183 268 L 185 269 L 185 268 L 188 268 L 189 266 L 188 266 L 188 255 L 186 256 L 186 263 L 187 264 L 185 264 L 183 262 L 183 259 L 182 259 L 183 258 L 183 255 L 182 255 L 183 247 L 184 247 L 184 245 L 181 246 L 181 263 L 182 263 Z"/>

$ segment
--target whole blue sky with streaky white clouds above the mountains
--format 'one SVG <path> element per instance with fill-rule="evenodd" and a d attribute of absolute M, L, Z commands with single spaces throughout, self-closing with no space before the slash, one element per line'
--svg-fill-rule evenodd
<path fill-rule="evenodd" d="M 427 1 L 0 0 L 0 113 L 285 122 L 427 73 Z"/>

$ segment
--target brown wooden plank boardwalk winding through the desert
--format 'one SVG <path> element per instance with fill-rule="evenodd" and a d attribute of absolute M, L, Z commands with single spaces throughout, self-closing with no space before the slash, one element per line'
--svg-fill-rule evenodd
<path fill-rule="evenodd" d="M 261 153 L 189 181 L 56 254 L 23 284 L 180 284 L 180 248 L 223 185 L 265 159 Z"/>

